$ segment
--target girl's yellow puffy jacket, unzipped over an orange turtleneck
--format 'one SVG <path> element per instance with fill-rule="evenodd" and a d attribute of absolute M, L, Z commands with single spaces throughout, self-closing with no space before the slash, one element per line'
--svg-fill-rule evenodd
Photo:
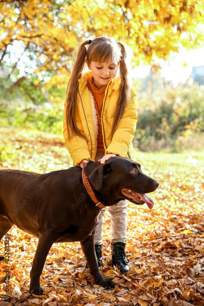
<path fill-rule="evenodd" d="M 73 136 L 71 141 L 68 140 L 66 116 L 64 115 L 63 134 L 65 145 L 75 166 L 79 166 L 83 159 L 94 160 L 96 155 L 98 119 L 93 96 L 86 86 L 87 79 L 90 76 L 91 71 L 84 73 L 79 80 L 78 109 L 75 114 L 76 125 L 80 132 L 86 137 L 87 141 L 79 136 Z M 120 77 L 116 77 L 114 80 L 109 81 L 105 91 L 101 114 L 103 144 L 105 155 L 113 153 L 133 159 L 132 140 L 137 123 L 136 94 L 133 90 L 131 100 L 126 106 L 124 114 L 113 135 L 113 139 L 111 139 L 111 128 L 117 106 L 120 84 Z"/>

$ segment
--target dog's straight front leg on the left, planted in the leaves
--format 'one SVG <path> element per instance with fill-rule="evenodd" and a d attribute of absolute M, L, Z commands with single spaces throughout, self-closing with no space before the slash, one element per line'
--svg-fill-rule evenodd
<path fill-rule="evenodd" d="M 48 236 L 40 234 L 38 246 L 32 264 L 32 269 L 30 272 L 30 278 L 31 278 L 30 290 L 29 290 L 30 294 L 42 295 L 43 292 L 45 291 L 40 286 L 40 275 L 42 274 L 47 254 L 54 241 L 56 241 L 53 238 L 54 237 L 52 237 L 52 234 Z"/>

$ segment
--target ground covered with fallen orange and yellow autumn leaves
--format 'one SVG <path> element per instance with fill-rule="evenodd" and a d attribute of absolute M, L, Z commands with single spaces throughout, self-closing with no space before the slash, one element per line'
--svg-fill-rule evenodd
<path fill-rule="evenodd" d="M 0 134 L 1 146 L 8 148 L 8 160 L 0 160 L 0 169 L 45 173 L 72 166 L 63 136 L 14 128 L 0 128 Z M 56 243 L 40 278 L 45 297 L 30 296 L 29 274 L 38 239 L 13 227 L 9 231 L 10 304 L 204 305 L 204 162 L 195 155 L 199 165 L 186 164 L 187 154 L 136 151 L 142 170 L 160 185 L 149 195 L 154 200 L 152 210 L 128 203 L 126 254 L 130 269 L 126 275 L 111 267 L 111 225 L 106 211 L 101 271 L 113 279 L 115 289 L 95 285 L 89 269 L 84 271 L 86 260 L 80 243 Z M 1 248 L 4 250 L 4 240 Z M 1 299 L 5 297 L 6 268 L 1 261 Z M 9 302 L 0 303 L 9 306 Z"/>

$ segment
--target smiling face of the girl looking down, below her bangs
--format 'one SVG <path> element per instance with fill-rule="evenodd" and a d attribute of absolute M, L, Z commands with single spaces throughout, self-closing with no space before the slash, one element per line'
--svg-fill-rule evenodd
<path fill-rule="evenodd" d="M 91 62 L 91 64 L 88 65 L 87 60 L 86 63 L 88 69 L 91 70 L 94 85 L 98 89 L 101 89 L 104 85 L 107 85 L 110 80 L 113 80 L 116 77 L 118 63 L 112 63 L 111 59 L 106 63 Z"/>

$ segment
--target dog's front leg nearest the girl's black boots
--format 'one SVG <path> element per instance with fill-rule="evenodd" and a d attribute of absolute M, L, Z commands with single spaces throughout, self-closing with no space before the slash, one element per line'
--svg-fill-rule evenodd
<path fill-rule="evenodd" d="M 115 283 L 102 275 L 98 268 L 96 259 L 95 246 L 94 246 L 94 233 L 91 233 L 86 239 L 80 242 L 84 255 L 86 257 L 91 274 L 94 277 L 96 284 L 111 289 L 115 287 Z"/>

